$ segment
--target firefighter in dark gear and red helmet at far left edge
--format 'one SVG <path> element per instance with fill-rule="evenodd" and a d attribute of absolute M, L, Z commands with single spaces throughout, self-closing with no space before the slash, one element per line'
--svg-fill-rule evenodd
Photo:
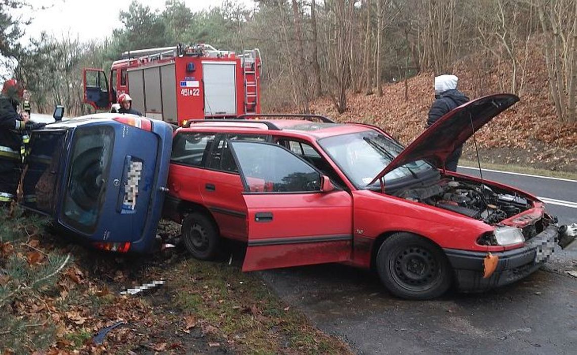
<path fill-rule="evenodd" d="M 20 182 L 24 147 L 23 139 L 31 129 L 43 127 L 31 121 L 20 120 L 17 113 L 23 88 L 16 79 L 2 86 L 0 95 L 0 206 L 7 207 L 16 199 Z"/>

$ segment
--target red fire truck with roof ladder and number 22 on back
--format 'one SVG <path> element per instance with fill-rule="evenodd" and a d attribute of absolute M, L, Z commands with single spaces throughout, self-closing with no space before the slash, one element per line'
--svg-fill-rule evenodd
<path fill-rule="evenodd" d="M 127 51 L 106 72 L 85 68 L 84 102 L 110 109 L 122 93 L 145 116 L 182 125 L 190 119 L 260 113 L 258 48 L 242 54 L 208 44 Z"/>

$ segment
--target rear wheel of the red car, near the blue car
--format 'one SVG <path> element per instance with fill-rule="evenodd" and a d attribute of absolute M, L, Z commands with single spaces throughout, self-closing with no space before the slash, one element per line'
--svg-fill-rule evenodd
<path fill-rule="evenodd" d="M 218 252 L 220 236 L 212 220 L 201 213 L 190 213 L 182 221 L 182 241 L 194 258 L 212 260 Z"/>

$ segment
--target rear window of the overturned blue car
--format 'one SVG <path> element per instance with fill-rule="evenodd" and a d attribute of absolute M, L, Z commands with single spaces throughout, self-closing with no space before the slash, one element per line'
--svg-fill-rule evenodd
<path fill-rule="evenodd" d="M 110 126 L 80 127 L 74 132 L 62 217 L 81 232 L 96 230 L 113 148 L 114 129 Z"/>

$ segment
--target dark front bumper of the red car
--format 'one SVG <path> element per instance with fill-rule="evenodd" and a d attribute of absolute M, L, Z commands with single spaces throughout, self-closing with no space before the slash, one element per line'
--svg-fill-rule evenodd
<path fill-rule="evenodd" d="M 529 276 L 549 259 L 559 238 L 559 229 L 549 226 L 522 248 L 492 253 L 499 257 L 494 273 L 483 278 L 485 252 L 443 249 L 455 272 L 459 291 L 480 292 L 514 283 Z"/>

